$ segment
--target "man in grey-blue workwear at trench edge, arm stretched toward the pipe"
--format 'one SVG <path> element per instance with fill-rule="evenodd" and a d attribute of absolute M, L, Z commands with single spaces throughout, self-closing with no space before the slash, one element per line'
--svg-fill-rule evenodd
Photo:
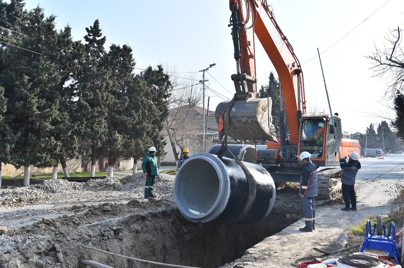
<path fill-rule="evenodd" d="M 316 230 L 317 166 L 310 160 L 310 157 L 311 154 L 306 151 L 301 152 L 300 156 L 296 156 L 304 165 L 300 175 L 299 195 L 305 213 L 305 227 L 299 228 L 300 232 L 313 232 L 313 230 Z"/>

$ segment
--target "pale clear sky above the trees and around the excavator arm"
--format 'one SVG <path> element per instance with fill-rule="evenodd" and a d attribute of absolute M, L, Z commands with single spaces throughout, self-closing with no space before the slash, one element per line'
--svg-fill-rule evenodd
<path fill-rule="evenodd" d="M 207 73 L 205 107 L 210 110 L 235 93 L 230 76 L 236 73 L 233 58 L 230 10 L 226 0 L 26 0 L 26 9 L 36 6 L 45 16 L 57 16 L 58 29 L 72 27 L 74 40 L 82 40 L 85 27 L 99 20 L 111 44 L 132 47 L 136 72 L 162 64 L 170 75 L 202 80 Z M 276 21 L 301 63 L 308 111 L 338 112 L 342 129 L 364 133 L 371 124 L 394 118 L 391 101 L 383 98 L 390 79 L 374 77 L 367 56 L 382 48 L 391 30 L 404 28 L 402 0 L 274 0 Z M 258 40 L 258 39 L 256 39 Z M 324 79 L 317 56 L 321 53 Z M 258 88 L 276 71 L 256 43 Z M 192 80 L 188 80 L 192 81 Z M 200 106 L 203 104 L 200 103 Z"/>

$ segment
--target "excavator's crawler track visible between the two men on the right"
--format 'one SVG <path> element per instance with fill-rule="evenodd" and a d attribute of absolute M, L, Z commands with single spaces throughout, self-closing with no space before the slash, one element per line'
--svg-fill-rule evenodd
<path fill-rule="evenodd" d="M 338 168 L 322 169 L 318 172 L 317 199 L 333 199 L 341 194 L 341 175 L 342 170 Z"/>

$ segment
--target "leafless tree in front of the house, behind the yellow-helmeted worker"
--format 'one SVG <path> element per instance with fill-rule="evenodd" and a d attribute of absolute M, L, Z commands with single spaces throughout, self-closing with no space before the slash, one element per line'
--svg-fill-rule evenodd
<path fill-rule="evenodd" d="M 170 79 L 174 89 L 169 98 L 170 110 L 166 121 L 166 131 L 175 160 L 178 161 L 185 147 L 195 147 L 201 143 L 196 135 L 200 129 L 198 129 L 198 123 L 195 123 L 197 115 L 194 114 L 194 108 L 202 99 L 202 91 L 200 83 L 194 75 L 188 74 L 183 78 L 171 76 Z M 179 151 L 177 151 L 177 146 L 180 148 Z"/>

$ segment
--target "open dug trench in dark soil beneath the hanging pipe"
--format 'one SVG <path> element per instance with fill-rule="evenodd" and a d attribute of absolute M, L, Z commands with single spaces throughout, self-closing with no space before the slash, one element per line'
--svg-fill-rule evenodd
<path fill-rule="evenodd" d="M 300 218 L 301 215 L 272 212 L 267 219 L 255 224 L 201 224 L 189 222 L 178 209 L 171 209 L 121 219 L 114 223 L 120 226 L 115 236 L 120 233 L 121 240 L 99 238 L 92 245 L 117 254 L 168 264 L 220 267 L 240 258 L 245 250 Z M 90 227 L 86 229 L 92 232 Z M 91 250 L 86 250 L 81 258 L 113 267 L 162 267 Z"/>

